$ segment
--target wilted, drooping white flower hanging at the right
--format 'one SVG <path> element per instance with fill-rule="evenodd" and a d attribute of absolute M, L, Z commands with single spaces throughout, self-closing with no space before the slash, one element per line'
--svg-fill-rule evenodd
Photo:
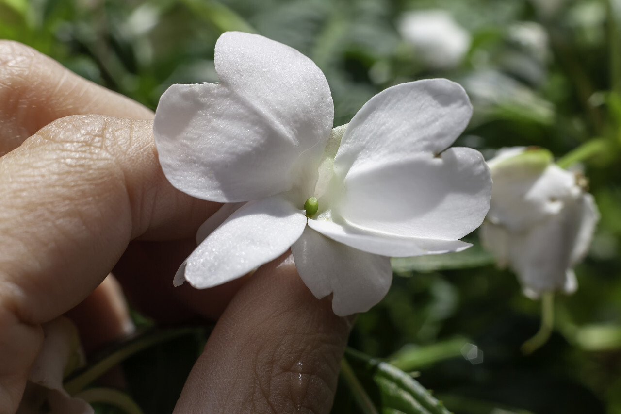
<path fill-rule="evenodd" d="M 530 298 L 576 290 L 572 268 L 587 254 L 599 219 L 586 179 L 551 161 L 547 150 L 514 147 L 487 162 L 494 185 L 481 241 Z"/>

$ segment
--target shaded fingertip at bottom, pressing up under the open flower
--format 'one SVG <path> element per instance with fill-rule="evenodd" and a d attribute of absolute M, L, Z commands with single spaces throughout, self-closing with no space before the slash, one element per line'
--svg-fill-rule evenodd
<path fill-rule="evenodd" d="M 350 328 L 283 256 L 257 270 L 233 298 L 175 413 L 328 413 Z"/>

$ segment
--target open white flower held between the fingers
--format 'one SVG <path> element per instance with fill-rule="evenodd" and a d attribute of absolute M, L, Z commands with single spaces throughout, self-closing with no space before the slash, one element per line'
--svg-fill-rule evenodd
<path fill-rule="evenodd" d="M 331 132 L 328 83 L 296 50 L 227 32 L 215 68 L 220 83 L 173 85 L 155 114 L 168 180 L 198 198 L 237 203 L 201 227 L 206 239 L 176 284 L 219 285 L 291 247 L 315 297 L 333 293 L 335 313 L 349 315 L 384 297 L 389 256 L 469 246 L 458 239 L 483 221 L 491 181 L 479 152 L 448 148 L 471 116 L 461 86 L 394 86 Z M 319 210 L 307 219 L 312 196 Z"/>

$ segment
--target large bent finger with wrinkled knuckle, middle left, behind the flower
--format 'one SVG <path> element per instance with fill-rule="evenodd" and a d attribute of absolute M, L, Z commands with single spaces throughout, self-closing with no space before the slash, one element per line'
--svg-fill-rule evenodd
<path fill-rule="evenodd" d="M 190 237 L 218 208 L 168 183 L 152 127 L 67 117 L 0 159 L 0 412 L 17 407 L 40 323 L 86 298 L 132 238 Z"/>

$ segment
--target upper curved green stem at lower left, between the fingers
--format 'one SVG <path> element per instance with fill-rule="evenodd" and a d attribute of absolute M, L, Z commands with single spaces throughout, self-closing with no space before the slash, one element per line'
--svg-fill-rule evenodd
<path fill-rule="evenodd" d="M 195 330 L 196 329 L 194 328 L 183 328 L 170 331 L 156 331 L 155 333 L 148 334 L 147 336 L 140 336 L 134 341 L 124 344 L 124 346 L 117 351 L 103 357 L 100 361 L 86 368 L 82 372 L 79 372 L 77 375 L 71 377 L 67 382 L 65 382 L 65 390 L 70 395 L 75 395 L 91 384 L 91 382 L 101 377 L 101 375 L 106 373 L 109 369 L 135 353 L 155 344 L 192 333 Z"/>

